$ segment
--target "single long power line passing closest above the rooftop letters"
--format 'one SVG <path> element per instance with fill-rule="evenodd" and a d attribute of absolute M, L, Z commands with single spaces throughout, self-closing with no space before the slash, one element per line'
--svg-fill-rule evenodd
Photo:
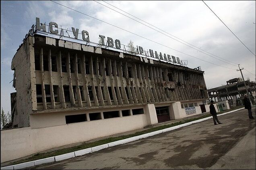
<path fill-rule="evenodd" d="M 73 8 L 70 8 L 70 7 L 68 7 L 68 6 L 62 5 L 62 4 L 60 4 L 60 3 L 58 3 L 58 2 L 55 2 L 55 1 L 53 1 L 53 0 L 50 0 L 50 1 L 52 1 L 52 2 L 54 2 L 54 3 L 56 3 L 56 4 L 59 4 L 59 5 L 61 5 L 61 6 L 64 6 L 64 7 L 68 8 L 68 9 L 70 9 L 70 10 L 74 10 Z M 80 11 L 78 11 L 78 10 L 74 10 L 74 11 L 79 12 L 79 13 L 81 13 L 81 14 L 83 14 L 83 15 L 89 16 L 88 14 L 85 14 L 85 13 L 80 12 Z M 149 38 L 145 38 L 144 36 L 140 36 L 140 35 L 138 35 L 138 34 L 135 34 L 135 33 L 133 33 L 133 32 L 130 32 L 130 31 L 128 31 L 128 30 L 125 30 L 124 28 L 120 28 L 120 27 L 118 27 L 118 26 L 115 26 L 115 25 L 113 25 L 113 24 L 110 24 L 110 23 L 108 23 L 108 22 L 105 22 L 105 21 L 103 21 L 103 20 L 100 20 L 100 19 L 95 18 L 95 17 L 93 17 L 93 16 L 89 16 L 89 17 L 91 17 L 91 18 L 93 18 L 93 19 L 96 19 L 96 20 L 99 20 L 99 21 L 101 21 L 101 22 L 104 22 L 104 23 L 106 23 L 106 24 L 109 24 L 109 25 L 111 25 L 111 26 L 114 26 L 114 27 L 116 27 L 116 28 L 119 28 L 119 29 L 121 29 L 121 30 L 124 30 L 124 31 L 126 31 L 126 32 L 129 32 L 129 33 L 131 33 L 131 34 L 134 34 L 134 35 L 136 35 L 136 36 L 139 36 L 139 37 L 141 37 L 141 38 L 144 38 L 144 39 L 146 39 L 146 40 L 149 40 L 149 41 L 151 41 L 151 42 L 155 42 L 155 41 L 153 41 L 153 40 L 151 40 L 151 39 L 149 39 Z M 167 47 L 167 48 L 169 48 L 169 49 L 172 49 L 171 47 L 168 47 L 168 46 L 166 46 L 166 45 L 163 45 L 163 44 L 161 44 L 161 43 L 159 43 L 159 42 L 155 42 L 155 43 L 156 43 L 156 44 L 159 44 L 159 45 L 162 45 L 163 47 Z M 184 55 L 188 55 L 188 54 L 186 54 L 186 53 L 183 53 L 183 52 L 178 51 L 178 50 L 175 50 L 175 49 L 172 49 L 172 50 L 177 51 L 177 52 L 179 52 L 179 53 L 182 53 L 182 54 L 184 54 Z M 198 59 L 198 60 L 201 60 L 201 61 L 204 61 L 204 62 L 207 62 L 207 63 L 210 63 L 210 64 L 213 64 L 213 65 L 217 65 L 217 64 L 215 64 L 215 63 L 211 63 L 211 62 L 209 62 L 209 61 L 205 61 L 205 60 L 199 59 L 199 58 L 194 57 L 194 56 L 192 56 L 192 55 L 188 55 L 188 56 L 193 57 L 193 58 Z M 217 66 L 224 67 L 224 66 L 221 66 L 221 65 L 217 65 Z M 229 68 L 229 67 L 224 67 L 224 68 L 226 68 L 226 69 L 232 69 L 232 68 Z M 235 69 L 232 69 L 232 70 L 235 70 Z"/>

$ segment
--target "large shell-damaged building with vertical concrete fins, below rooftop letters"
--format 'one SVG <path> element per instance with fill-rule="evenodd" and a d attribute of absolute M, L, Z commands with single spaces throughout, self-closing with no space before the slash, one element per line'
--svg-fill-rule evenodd
<path fill-rule="evenodd" d="M 138 114 L 154 124 L 184 117 L 179 110 L 208 99 L 203 71 L 36 34 L 17 50 L 11 69 L 14 127 Z"/>

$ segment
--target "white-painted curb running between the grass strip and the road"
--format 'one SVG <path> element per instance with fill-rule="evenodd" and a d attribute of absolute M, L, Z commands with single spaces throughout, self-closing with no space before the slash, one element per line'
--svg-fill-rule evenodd
<path fill-rule="evenodd" d="M 219 114 L 218 116 L 226 115 L 228 113 L 233 113 L 235 111 L 242 110 L 242 109 L 244 109 L 244 108 L 228 111 L 226 113 Z M 45 164 L 45 163 L 49 163 L 49 162 L 57 162 L 57 161 L 60 161 L 60 160 L 65 160 L 65 159 L 73 158 L 73 157 L 76 157 L 76 156 L 81 156 L 81 155 L 89 154 L 89 153 L 92 153 L 92 152 L 97 152 L 99 150 L 103 150 L 105 148 L 109 148 L 109 147 L 112 147 L 112 146 L 126 144 L 126 143 L 129 143 L 129 142 L 133 142 L 135 140 L 140 140 L 142 138 L 147 138 L 149 136 L 154 136 L 154 135 L 161 134 L 161 133 L 164 133 L 164 132 L 169 132 L 169 131 L 178 129 L 180 127 L 185 127 L 185 126 L 188 126 L 188 125 L 191 125 L 191 124 L 194 124 L 194 123 L 199 123 L 201 121 L 205 121 L 205 120 L 208 120 L 208 119 L 211 119 L 211 118 L 212 117 L 209 116 L 209 117 L 205 117 L 205 118 L 202 118 L 202 119 L 190 121 L 188 123 L 183 123 L 181 125 L 168 127 L 166 129 L 163 129 L 163 130 L 158 130 L 158 131 L 150 132 L 150 133 L 147 133 L 147 134 L 142 134 L 142 135 L 139 135 L 139 136 L 134 136 L 134 137 L 126 138 L 126 139 L 123 139 L 123 140 L 110 142 L 110 143 L 103 144 L 103 145 L 100 145 L 100 146 L 95 146 L 95 147 L 92 147 L 92 148 L 78 150 L 78 151 L 75 151 L 75 152 L 70 152 L 70 153 L 67 153 L 67 154 L 62 154 L 62 155 L 53 156 L 53 157 L 49 157 L 49 158 L 44 158 L 44 159 L 40 159 L 40 160 L 24 162 L 24 163 L 21 163 L 21 164 L 5 166 L 5 167 L 1 167 L 1 170 L 17 170 L 17 169 L 28 168 L 28 167 L 39 165 L 39 164 Z"/>

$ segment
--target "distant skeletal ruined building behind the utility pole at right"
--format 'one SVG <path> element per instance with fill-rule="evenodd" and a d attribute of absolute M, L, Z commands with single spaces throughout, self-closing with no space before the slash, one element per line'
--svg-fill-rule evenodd
<path fill-rule="evenodd" d="M 254 81 L 245 81 L 252 103 L 255 103 L 255 88 Z M 241 78 L 234 78 L 227 81 L 227 85 L 208 89 L 209 100 L 213 101 L 229 101 L 229 105 L 233 105 L 233 99 L 236 105 L 242 105 L 242 99 L 246 94 L 244 81 Z"/>

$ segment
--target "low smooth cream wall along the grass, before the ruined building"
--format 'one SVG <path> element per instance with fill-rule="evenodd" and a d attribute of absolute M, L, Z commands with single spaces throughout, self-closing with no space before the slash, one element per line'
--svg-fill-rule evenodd
<path fill-rule="evenodd" d="M 147 115 L 140 114 L 36 129 L 24 127 L 2 130 L 1 162 L 59 146 L 144 128 L 146 125 Z"/>

